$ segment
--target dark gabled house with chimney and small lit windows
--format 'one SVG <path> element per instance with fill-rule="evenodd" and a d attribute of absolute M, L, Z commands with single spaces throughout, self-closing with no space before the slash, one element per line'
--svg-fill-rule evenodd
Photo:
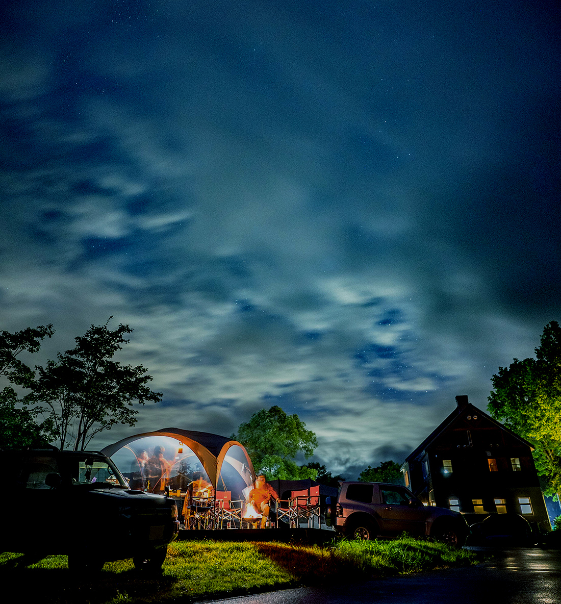
<path fill-rule="evenodd" d="M 406 458 L 405 484 L 423 503 L 447 507 L 468 524 L 515 512 L 534 528 L 551 530 L 532 446 L 456 397 L 457 408 Z"/>

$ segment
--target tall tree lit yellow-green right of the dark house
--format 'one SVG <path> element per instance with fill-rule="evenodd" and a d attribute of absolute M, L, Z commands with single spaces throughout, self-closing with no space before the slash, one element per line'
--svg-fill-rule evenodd
<path fill-rule="evenodd" d="M 536 358 L 513 359 L 491 378 L 489 413 L 534 447 L 546 495 L 561 493 L 561 328 L 543 328 Z"/>

